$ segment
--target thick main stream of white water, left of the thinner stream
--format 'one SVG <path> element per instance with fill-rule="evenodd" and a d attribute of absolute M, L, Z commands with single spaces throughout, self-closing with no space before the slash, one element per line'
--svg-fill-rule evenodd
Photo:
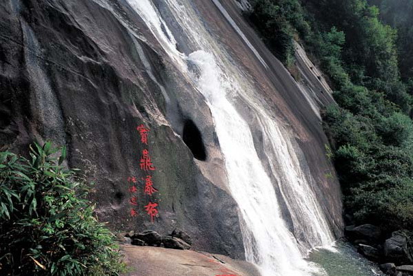
<path fill-rule="evenodd" d="M 189 56 L 201 69 L 198 87 L 208 99 L 216 133 L 225 156 L 231 193 L 239 204 L 245 226 L 247 259 L 259 265 L 263 276 L 310 275 L 296 240 L 281 218 L 274 187 L 255 151 L 248 124 L 225 97 L 225 88 L 212 54 Z"/>

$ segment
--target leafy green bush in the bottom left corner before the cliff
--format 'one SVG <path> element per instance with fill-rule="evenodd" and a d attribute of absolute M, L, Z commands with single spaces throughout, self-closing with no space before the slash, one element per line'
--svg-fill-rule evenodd
<path fill-rule="evenodd" d="M 113 235 L 94 217 L 87 186 L 61 164 L 66 149 L 0 153 L 0 274 L 103 276 L 124 269 Z"/>

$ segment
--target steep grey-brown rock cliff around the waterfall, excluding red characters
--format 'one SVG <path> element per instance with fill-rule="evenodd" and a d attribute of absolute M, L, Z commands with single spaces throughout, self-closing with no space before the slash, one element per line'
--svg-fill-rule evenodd
<path fill-rule="evenodd" d="M 0 147 L 25 152 L 34 139 L 68 145 L 68 166 L 82 169 L 96 183 L 92 198 L 97 213 L 112 229 L 170 233 L 178 227 L 193 237 L 196 249 L 243 259 L 248 248 L 242 234 L 245 217 L 228 184 L 230 167 L 228 162 L 225 166 L 211 101 L 195 77 L 181 69 L 181 60 L 168 54 L 132 2 L 0 3 Z M 191 39 L 172 2 L 152 3 L 163 19 L 160 30 L 176 39 L 170 51 L 191 57 L 208 50 Z M 332 232 L 341 235 L 339 184 L 325 155 L 327 140 L 318 114 L 319 107 L 333 101 L 328 86 L 317 78 L 320 74 L 298 51 L 303 78 L 296 83 L 243 20 L 236 1 L 181 1 L 181 8 L 193 10 L 199 32 L 208 32 L 213 45 L 225 52 L 215 59 L 222 58 L 228 67 L 235 64 L 236 72 L 242 72 L 237 79 L 248 78 L 243 89 L 248 93 L 253 87 L 256 94 L 250 96 L 259 98 L 256 108 L 268 110 L 270 119 L 282 125 L 291 145 L 288 151 L 296 151 L 294 160 L 303 174 L 297 179 L 311 178 L 309 191 L 319 213 Z M 201 76 L 196 58 L 192 54 L 185 66 Z M 245 98 L 234 96 L 233 102 L 272 183 L 288 184 L 290 180 L 271 173 L 282 167 L 282 160 L 268 153 L 271 141 L 262 117 L 254 116 Z M 137 132 L 141 124 L 150 129 L 147 148 L 157 168 L 153 182 L 159 190 L 159 217 L 154 224 L 143 210 L 149 200 L 143 192 L 138 196 L 139 215 L 130 217 L 128 177 L 145 177 L 139 168 L 145 149 Z M 288 229 L 303 247 L 312 245 L 302 237 L 307 229 L 296 224 L 291 211 L 294 198 L 285 195 L 283 186 L 274 187 Z"/>

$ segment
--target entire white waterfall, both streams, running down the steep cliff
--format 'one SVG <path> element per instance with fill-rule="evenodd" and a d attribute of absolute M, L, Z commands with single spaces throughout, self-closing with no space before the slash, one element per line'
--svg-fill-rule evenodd
<path fill-rule="evenodd" d="M 301 169 L 299 149 L 293 147 L 288 131 L 256 101 L 253 85 L 205 30 L 201 19 L 190 10 L 188 1 L 165 0 L 185 35 L 198 47 L 185 56 L 176 49 L 172 32 L 151 1 L 128 0 L 165 52 L 177 62 L 183 74 L 192 76 L 208 100 L 225 156 L 228 186 L 241 211 L 247 259 L 259 266 L 263 276 L 312 275 L 316 268 L 303 259 L 303 247 L 327 246 L 332 242 L 332 233 L 310 187 L 309 181 L 313 180 L 311 176 L 305 177 Z M 196 65 L 199 72 L 190 72 L 185 63 Z M 254 112 L 252 116 L 258 118 L 265 154 L 276 183 L 263 167 L 250 126 L 237 112 L 234 98 L 248 105 Z M 275 185 L 291 215 L 294 235 L 303 236 L 301 241 L 305 240 L 305 245 L 300 245 L 288 230 L 281 216 Z"/>

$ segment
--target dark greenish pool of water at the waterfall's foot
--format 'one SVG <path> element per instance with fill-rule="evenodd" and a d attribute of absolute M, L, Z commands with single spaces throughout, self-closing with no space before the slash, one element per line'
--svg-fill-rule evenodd
<path fill-rule="evenodd" d="M 318 264 L 328 276 L 384 276 L 378 266 L 369 262 L 350 244 L 337 242 L 334 250 L 316 249 L 308 256 L 310 262 Z M 325 276 L 324 273 L 316 276 Z"/>

